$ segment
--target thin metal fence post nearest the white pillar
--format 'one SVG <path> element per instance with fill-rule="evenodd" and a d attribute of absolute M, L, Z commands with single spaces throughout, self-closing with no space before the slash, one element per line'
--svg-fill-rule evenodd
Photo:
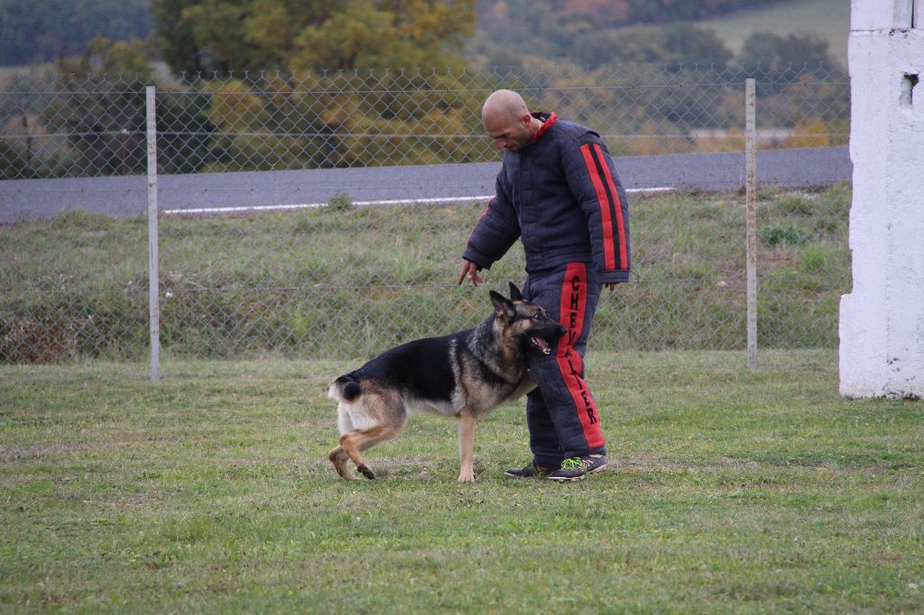
<path fill-rule="evenodd" d="M 748 214 L 746 243 L 748 247 L 748 368 L 757 369 L 757 128 L 755 80 L 745 80 L 745 134 L 747 165 Z"/>

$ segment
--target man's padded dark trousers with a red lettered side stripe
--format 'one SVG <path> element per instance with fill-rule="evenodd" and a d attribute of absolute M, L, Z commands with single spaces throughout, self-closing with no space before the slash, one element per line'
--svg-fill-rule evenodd
<path fill-rule="evenodd" d="M 523 286 L 524 298 L 568 330 L 549 355 L 529 355 L 539 385 L 526 404 L 534 464 L 556 468 L 567 457 L 606 453 L 597 403 L 584 380 L 584 352 L 601 290 L 593 267 L 583 262 L 529 272 Z"/>

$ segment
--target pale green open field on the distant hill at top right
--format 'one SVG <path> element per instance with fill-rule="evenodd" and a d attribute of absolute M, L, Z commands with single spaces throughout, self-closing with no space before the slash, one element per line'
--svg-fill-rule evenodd
<path fill-rule="evenodd" d="M 791 0 L 740 11 L 721 18 L 703 19 L 701 28 L 715 30 L 736 54 L 752 32 L 815 34 L 829 42 L 828 51 L 846 68 L 850 35 L 850 3 L 846 0 Z"/>

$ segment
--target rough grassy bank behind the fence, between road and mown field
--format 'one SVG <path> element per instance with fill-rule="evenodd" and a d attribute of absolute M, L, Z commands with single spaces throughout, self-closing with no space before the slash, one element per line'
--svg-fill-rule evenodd
<path fill-rule="evenodd" d="M 762 190 L 759 336 L 837 346 L 849 292 L 850 189 Z M 369 356 L 474 325 L 486 291 L 458 288 L 483 204 L 339 207 L 161 221 L 161 343 L 168 358 Z M 744 198 L 633 197 L 633 279 L 594 320 L 606 350 L 746 344 Z M 0 227 L 0 362 L 147 356 L 147 229 L 74 211 Z M 522 248 L 486 275 L 521 283 Z"/>

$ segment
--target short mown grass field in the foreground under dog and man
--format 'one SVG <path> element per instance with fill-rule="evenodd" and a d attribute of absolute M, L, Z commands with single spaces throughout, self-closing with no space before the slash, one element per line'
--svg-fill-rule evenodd
<path fill-rule="evenodd" d="M 769 354 L 772 355 L 772 354 Z M 924 404 L 845 401 L 836 355 L 594 353 L 611 470 L 505 479 L 522 406 L 325 460 L 334 362 L 0 367 L 0 609 L 919 612 Z"/>

